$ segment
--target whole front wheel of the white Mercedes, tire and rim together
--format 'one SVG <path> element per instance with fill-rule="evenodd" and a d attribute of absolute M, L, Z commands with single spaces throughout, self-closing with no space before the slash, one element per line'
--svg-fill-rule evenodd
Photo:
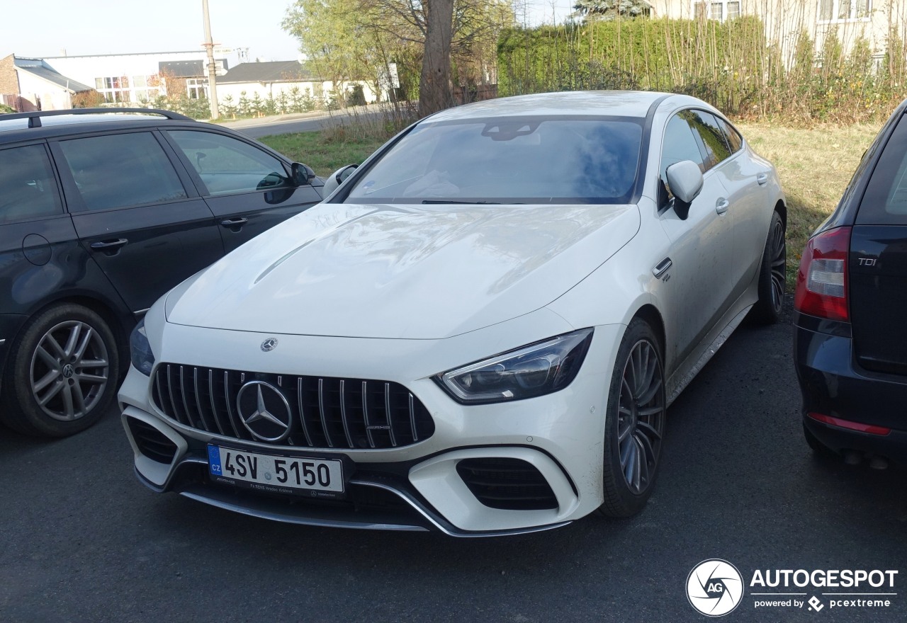
<path fill-rule="evenodd" d="M 662 360 L 655 331 L 639 318 L 631 321 L 608 393 L 599 508 L 605 516 L 639 513 L 655 487 L 667 415 Z"/>

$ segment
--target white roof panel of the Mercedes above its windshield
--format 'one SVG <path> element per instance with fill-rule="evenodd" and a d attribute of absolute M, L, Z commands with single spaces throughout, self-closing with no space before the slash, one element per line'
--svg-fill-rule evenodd
<path fill-rule="evenodd" d="M 561 91 L 534 93 L 496 100 L 477 101 L 442 110 L 431 121 L 467 120 L 488 117 L 563 117 L 607 115 L 645 118 L 653 103 L 668 96 L 657 91 Z M 691 98 L 692 99 L 692 98 Z"/>

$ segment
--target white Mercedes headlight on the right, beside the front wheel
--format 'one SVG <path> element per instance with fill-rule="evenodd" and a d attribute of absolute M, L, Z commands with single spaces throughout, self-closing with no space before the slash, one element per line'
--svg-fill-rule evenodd
<path fill-rule="evenodd" d="M 566 388 L 580 371 L 592 341 L 582 329 L 476 361 L 434 376 L 462 404 L 522 400 Z"/>

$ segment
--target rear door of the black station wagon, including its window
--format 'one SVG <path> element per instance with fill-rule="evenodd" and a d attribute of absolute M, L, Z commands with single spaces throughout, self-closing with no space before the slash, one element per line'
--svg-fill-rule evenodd
<path fill-rule="evenodd" d="M 73 225 L 133 312 L 223 254 L 214 216 L 153 131 L 51 143 Z"/>

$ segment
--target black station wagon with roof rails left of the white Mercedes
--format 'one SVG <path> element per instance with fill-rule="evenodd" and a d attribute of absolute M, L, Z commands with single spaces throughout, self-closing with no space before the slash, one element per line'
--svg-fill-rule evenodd
<path fill-rule="evenodd" d="M 151 303 L 322 186 L 257 141 L 165 110 L 0 115 L 0 421 L 40 436 L 91 426 Z"/>

